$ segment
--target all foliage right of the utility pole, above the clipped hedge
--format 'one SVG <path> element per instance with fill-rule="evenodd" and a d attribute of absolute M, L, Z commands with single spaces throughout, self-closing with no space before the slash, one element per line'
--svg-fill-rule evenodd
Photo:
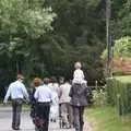
<path fill-rule="evenodd" d="M 118 72 L 118 74 L 123 74 L 124 72 L 131 72 L 131 1 L 115 0 L 111 1 L 111 3 L 110 31 L 112 34 L 111 45 L 115 43 L 115 46 L 110 53 L 114 57 L 112 66 L 115 73 Z M 107 50 L 103 52 L 102 58 L 107 58 Z"/>

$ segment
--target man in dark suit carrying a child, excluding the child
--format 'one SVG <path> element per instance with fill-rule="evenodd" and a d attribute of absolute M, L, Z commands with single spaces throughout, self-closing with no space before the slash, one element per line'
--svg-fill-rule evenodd
<path fill-rule="evenodd" d="M 75 131 L 83 131 L 83 115 L 84 108 L 87 106 L 87 94 L 88 88 L 86 82 L 83 84 L 73 84 L 70 91 Z"/>

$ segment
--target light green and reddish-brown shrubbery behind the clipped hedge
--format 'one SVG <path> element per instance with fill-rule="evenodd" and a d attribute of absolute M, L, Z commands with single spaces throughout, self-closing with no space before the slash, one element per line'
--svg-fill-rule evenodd
<path fill-rule="evenodd" d="M 129 75 L 131 74 L 131 37 L 121 37 L 115 40 L 112 51 L 112 73 L 114 75 Z M 102 55 L 102 60 L 107 66 L 107 49 Z"/>

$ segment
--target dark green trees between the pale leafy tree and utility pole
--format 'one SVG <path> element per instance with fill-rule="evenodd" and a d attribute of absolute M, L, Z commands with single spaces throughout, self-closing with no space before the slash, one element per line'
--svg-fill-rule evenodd
<path fill-rule="evenodd" d="M 100 0 L 47 0 L 57 13 L 53 22 L 52 44 L 61 50 L 61 57 L 52 59 L 49 74 L 72 79 L 73 63 L 83 62 L 88 83 L 103 78 L 99 55 L 105 47 L 105 2 Z M 61 48 L 59 48 L 61 47 Z M 51 72 L 50 72 L 51 71 Z"/>

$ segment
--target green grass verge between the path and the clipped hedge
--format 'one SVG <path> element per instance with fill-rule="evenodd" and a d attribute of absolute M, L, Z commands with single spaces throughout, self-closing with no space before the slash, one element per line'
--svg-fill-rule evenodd
<path fill-rule="evenodd" d="M 119 117 L 114 108 L 90 108 L 86 115 L 93 131 L 131 131 L 131 117 Z"/>

